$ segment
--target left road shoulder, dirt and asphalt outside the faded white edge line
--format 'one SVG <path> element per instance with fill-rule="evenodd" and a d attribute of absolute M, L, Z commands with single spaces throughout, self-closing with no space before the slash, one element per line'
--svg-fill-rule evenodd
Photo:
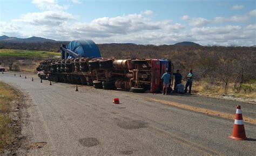
<path fill-rule="evenodd" d="M 52 141 L 43 121 L 42 113 L 29 94 L 18 86 L 12 86 L 18 93 L 19 99 L 12 105 L 11 117 L 14 120 L 16 141 L 8 147 L 8 155 L 43 155 L 56 154 Z"/>

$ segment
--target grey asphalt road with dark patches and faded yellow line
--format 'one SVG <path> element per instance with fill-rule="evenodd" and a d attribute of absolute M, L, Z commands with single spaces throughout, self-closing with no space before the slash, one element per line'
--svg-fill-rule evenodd
<path fill-rule="evenodd" d="M 186 107 L 256 119 L 256 105 L 201 96 L 163 96 L 94 89 L 34 81 L 0 73 L 0 80 L 21 90 L 28 99 L 23 108 L 22 135 L 30 148 L 17 154 L 51 155 L 255 155 L 256 125 L 245 123 L 250 140 L 229 139 L 234 119 Z M 119 98 L 119 105 L 113 98 Z M 159 102 L 160 100 L 160 102 Z M 42 148 L 32 148 L 42 144 Z M 34 146 L 33 146 L 34 145 Z M 36 146 L 37 147 L 37 146 Z"/>

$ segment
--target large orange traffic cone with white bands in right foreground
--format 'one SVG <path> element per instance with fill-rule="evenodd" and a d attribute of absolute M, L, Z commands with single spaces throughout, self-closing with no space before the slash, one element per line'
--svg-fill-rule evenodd
<path fill-rule="evenodd" d="M 237 106 L 237 113 L 235 113 L 235 121 L 233 126 L 233 134 L 228 137 L 234 140 L 246 140 L 244 121 L 242 120 L 241 106 Z"/>

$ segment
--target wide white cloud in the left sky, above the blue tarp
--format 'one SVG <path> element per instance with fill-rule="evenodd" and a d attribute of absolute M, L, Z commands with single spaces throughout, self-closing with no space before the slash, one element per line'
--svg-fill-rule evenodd
<path fill-rule="evenodd" d="M 43 11 L 26 13 L 20 19 L 14 19 L 13 21 L 25 22 L 31 25 L 57 26 L 71 19 L 74 19 L 74 17 L 68 12 Z"/>

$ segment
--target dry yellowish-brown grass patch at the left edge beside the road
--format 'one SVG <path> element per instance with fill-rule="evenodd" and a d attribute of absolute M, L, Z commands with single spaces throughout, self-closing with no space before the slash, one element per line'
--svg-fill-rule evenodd
<path fill-rule="evenodd" d="M 0 82 L 0 154 L 15 140 L 15 128 L 11 126 L 9 113 L 11 101 L 17 99 L 17 96 L 18 93 L 9 85 Z"/>

